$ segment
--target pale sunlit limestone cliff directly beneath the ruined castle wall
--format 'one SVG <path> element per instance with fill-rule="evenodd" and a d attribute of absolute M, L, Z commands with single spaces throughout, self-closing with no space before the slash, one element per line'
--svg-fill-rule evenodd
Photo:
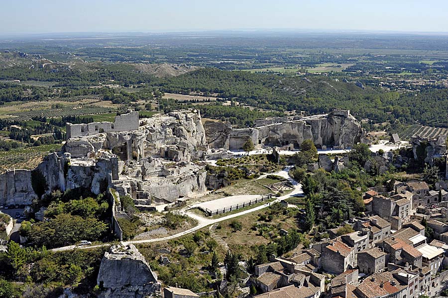
<path fill-rule="evenodd" d="M 144 118 L 138 130 L 72 138 L 63 147 L 63 151 L 69 152 L 73 158 L 95 156 L 100 150 L 110 150 L 121 160 L 153 156 L 187 162 L 201 157 L 207 149 L 205 129 L 198 110 Z"/>

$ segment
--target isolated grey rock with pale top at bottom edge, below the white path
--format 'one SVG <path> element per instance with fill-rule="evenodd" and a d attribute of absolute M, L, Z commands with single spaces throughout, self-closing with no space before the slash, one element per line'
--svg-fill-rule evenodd
<path fill-rule="evenodd" d="M 132 245 L 115 245 L 101 260 L 97 283 L 102 298 L 143 298 L 159 293 L 161 284 L 143 255 Z"/>

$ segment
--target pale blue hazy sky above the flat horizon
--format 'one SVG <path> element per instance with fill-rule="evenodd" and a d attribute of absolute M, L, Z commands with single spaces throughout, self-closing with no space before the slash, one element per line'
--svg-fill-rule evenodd
<path fill-rule="evenodd" d="M 448 32 L 447 0 L 0 0 L 0 33 Z"/>

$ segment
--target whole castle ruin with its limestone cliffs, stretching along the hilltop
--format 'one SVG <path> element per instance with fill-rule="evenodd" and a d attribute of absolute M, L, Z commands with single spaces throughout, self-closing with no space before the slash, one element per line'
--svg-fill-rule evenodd
<path fill-rule="evenodd" d="M 31 181 L 42 176 L 47 193 L 87 188 L 99 194 L 112 187 L 136 205 L 154 206 L 213 189 L 208 187 L 206 163 L 199 161 L 216 155 L 214 149 L 240 149 L 248 138 L 257 147 L 294 148 L 305 139 L 320 148 L 349 148 L 364 140 L 364 131 L 348 111 L 266 121 L 234 129 L 219 121 L 203 125 L 199 110 L 179 110 L 142 119 L 138 112 L 129 112 L 114 123 L 68 123 L 69 138 L 61 152 L 49 154 L 32 171 L 0 175 L 0 203 L 30 205 L 39 197 Z"/>

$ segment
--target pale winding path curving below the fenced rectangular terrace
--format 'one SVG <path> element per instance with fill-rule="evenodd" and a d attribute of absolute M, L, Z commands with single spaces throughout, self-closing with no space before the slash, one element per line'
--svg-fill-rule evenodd
<path fill-rule="evenodd" d="M 288 199 L 288 198 L 294 197 L 295 195 L 303 194 L 302 185 L 299 184 L 294 179 L 292 179 L 291 177 L 289 177 L 288 171 L 290 169 L 291 169 L 291 166 L 286 167 L 282 171 L 279 171 L 277 173 L 271 174 L 271 175 L 277 175 L 277 176 L 284 177 L 284 178 L 288 179 L 291 182 L 291 184 L 294 186 L 294 190 L 291 193 L 289 193 L 288 195 L 279 197 L 279 198 L 277 198 L 274 201 L 271 201 L 269 203 L 265 203 L 265 204 L 253 207 L 251 209 L 244 210 L 244 211 L 241 211 L 241 212 L 238 212 L 238 213 L 234 213 L 234 214 L 230 214 L 230 215 L 227 215 L 227 216 L 223 216 L 223 217 L 220 217 L 220 218 L 208 218 L 208 217 L 204 217 L 204 216 L 195 214 L 193 212 L 190 212 L 190 211 L 188 211 L 188 209 L 183 209 L 183 210 L 181 210 L 182 213 L 184 213 L 184 214 L 186 214 L 186 215 L 188 215 L 188 216 L 198 220 L 198 225 L 197 226 L 195 226 L 195 227 L 193 227 L 193 228 L 191 228 L 189 230 L 186 230 L 186 231 L 183 231 L 183 232 L 171 235 L 171 236 L 167 236 L 167 237 L 146 239 L 146 240 L 123 241 L 122 244 L 127 245 L 127 244 L 138 244 L 138 243 L 152 243 L 152 242 L 160 242 L 160 241 L 166 241 L 166 240 L 179 238 L 179 237 L 182 237 L 184 235 L 187 235 L 187 234 L 190 234 L 192 232 L 195 232 L 195 231 L 197 231 L 199 229 L 202 229 L 202 228 L 204 228 L 204 227 L 206 227 L 208 225 L 211 225 L 211 224 L 214 224 L 214 223 L 217 223 L 217 222 L 221 222 L 221 221 L 224 221 L 224 220 L 227 220 L 227 219 L 230 219 L 230 218 L 235 218 L 235 217 L 238 217 L 238 216 L 241 216 L 241 215 L 244 215 L 244 214 L 252 213 L 252 212 L 264 209 L 264 208 L 268 207 L 269 205 L 271 205 L 272 203 L 278 202 L 278 201 L 280 201 L 282 199 Z M 105 244 L 105 245 L 109 245 L 109 244 Z M 101 246 L 104 246 L 104 245 L 93 245 L 93 246 L 70 245 L 70 246 L 65 246 L 65 247 L 54 248 L 54 249 L 52 249 L 52 251 L 71 250 L 71 249 L 74 249 L 75 247 L 78 247 L 80 249 L 89 249 L 89 248 L 96 248 L 96 247 L 101 247 Z"/>

